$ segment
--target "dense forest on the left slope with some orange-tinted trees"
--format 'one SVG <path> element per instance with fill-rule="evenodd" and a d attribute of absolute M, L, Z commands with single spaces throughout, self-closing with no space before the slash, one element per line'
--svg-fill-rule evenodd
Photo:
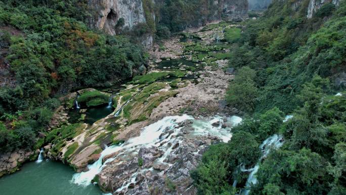
<path fill-rule="evenodd" d="M 127 37 L 89 29 L 86 3 L 0 1 L 0 42 L 10 64 L 2 76 L 16 81 L 0 89 L 0 153 L 35 147 L 62 94 L 127 79 L 147 63 Z"/>

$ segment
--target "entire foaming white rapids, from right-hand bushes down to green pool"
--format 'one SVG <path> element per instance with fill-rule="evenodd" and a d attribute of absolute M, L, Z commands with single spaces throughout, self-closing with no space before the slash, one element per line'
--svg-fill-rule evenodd
<path fill-rule="evenodd" d="M 232 137 L 232 134 L 230 132 L 231 127 L 239 124 L 242 121 L 242 119 L 238 116 L 232 116 L 231 118 L 228 118 L 227 123 L 229 124 L 229 126 L 227 128 L 222 128 L 221 125 L 219 127 L 214 127 L 211 125 L 215 122 L 220 122 L 221 124 L 223 122 L 223 118 L 221 116 L 214 116 L 211 120 L 194 119 L 192 116 L 186 114 L 182 116 L 166 116 L 160 121 L 157 121 L 156 123 L 153 123 L 142 129 L 141 134 L 138 137 L 128 139 L 121 145 L 112 145 L 106 147 L 101 152 L 101 157 L 99 158 L 99 160 L 96 161 L 94 164 L 88 166 L 89 171 L 74 174 L 72 182 L 83 186 L 91 184 L 91 180 L 95 177 L 95 175 L 100 173 L 105 166 L 107 166 L 107 163 L 112 162 L 119 155 L 128 155 L 129 157 L 136 155 L 139 149 L 143 146 L 157 146 L 161 150 L 165 151 L 162 157 L 156 160 L 156 162 L 162 163 L 164 159 L 167 158 L 167 155 L 169 155 L 170 151 L 172 150 L 172 147 L 176 143 L 182 142 L 181 136 L 177 136 L 179 133 L 181 133 L 180 130 L 183 128 L 182 126 L 179 126 L 179 124 L 187 120 L 193 120 L 193 130 L 191 134 L 210 134 L 221 138 L 225 142 L 230 140 Z M 118 151 L 119 154 L 117 154 L 116 157 L 108 159 L 102 164 L 102 159 L 106 155 Z M 126 187 L 130 182 L 131 181 L 124 183 L 121 188 Z"/>

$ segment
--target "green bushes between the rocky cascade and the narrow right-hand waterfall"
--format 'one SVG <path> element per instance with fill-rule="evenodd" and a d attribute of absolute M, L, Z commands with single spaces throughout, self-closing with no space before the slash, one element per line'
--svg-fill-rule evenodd
<path fill-rule="evenodd" d="M 239 131 L 232 140 L 210 146 L 203 154 L 202 163 L 191 172 L 198 194 L 235 194 L 229 182 L 240 165 L 250 167 L 260 157 L 259 144 L 250 133 Z"/>

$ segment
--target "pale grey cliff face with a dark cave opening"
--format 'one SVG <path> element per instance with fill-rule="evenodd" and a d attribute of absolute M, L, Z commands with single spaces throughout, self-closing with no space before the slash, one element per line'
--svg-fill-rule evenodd
<path fill-rule="evenodd" d="M 89 3 L 96 15 L 90 19 L 91 27 L 103 29 L 115 35 L 116 28 L 132 29 L 146 22 L 142 0 L 91 0 Z"/>

